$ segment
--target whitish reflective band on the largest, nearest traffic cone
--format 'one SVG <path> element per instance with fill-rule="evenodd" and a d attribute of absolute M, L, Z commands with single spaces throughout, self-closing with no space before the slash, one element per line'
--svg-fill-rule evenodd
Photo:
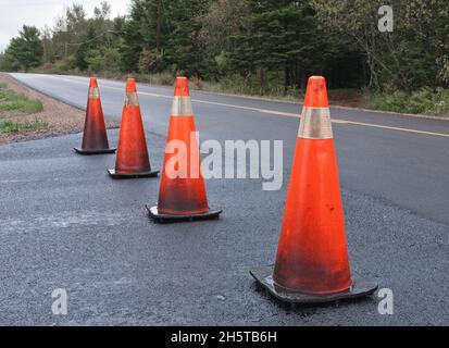
<path fill-rule="evenodd" d="M 303 139 L 333 139 L 329 108 L 304 107 L 298 133 Z"/>

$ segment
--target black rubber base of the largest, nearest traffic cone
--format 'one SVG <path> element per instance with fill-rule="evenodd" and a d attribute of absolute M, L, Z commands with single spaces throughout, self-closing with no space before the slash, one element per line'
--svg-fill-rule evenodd
<path fill-rule="evenodd" d="M 273 282 L 274 266 L 263 266 L 252 270 L 250 273 L 258 282 L 258 284 L 269 291 L 270 295 L 275 297 L 282 302 L 289 303 L 326 303 L 339 300 L 350 300 L 356 298 L 362 298 L 374 294 L 378 285 L 374 282 L 364 279 L 352 279 L 351 288 L 346 293 L 338 293 L 332 295 L 310 295 L 303 293 L 294 293 L 280 288 Z"/>

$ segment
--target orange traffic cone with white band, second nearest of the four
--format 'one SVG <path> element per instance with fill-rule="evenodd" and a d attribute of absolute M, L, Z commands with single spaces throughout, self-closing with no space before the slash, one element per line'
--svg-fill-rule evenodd
<path fill-rule="evenodd" d="M 180 144 L 187 151 L 184 154 L 172 153 L 171 145 Z M 185 175 L 174 173 L 171 166 L 176 157 L 184 163 Z M 190 92 L 186 77 L 176 79 L 175 98 L 170 120 L 167 147 L 165 151 L 164 171 L 158 207 L 149 208 L 150 217 L 157 222 L 204 220 L 217 217 L 222 211 L 211 210 L 208 204 L 204 179 L 201 175 L 200 154 L 196 137 L 195 116 L 191 109 Z M 197 167 L 192 173 L 191 167 Z"/>

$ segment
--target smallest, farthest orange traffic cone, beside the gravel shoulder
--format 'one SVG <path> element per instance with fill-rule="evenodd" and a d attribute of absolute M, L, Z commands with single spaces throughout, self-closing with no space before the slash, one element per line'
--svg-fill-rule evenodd
<path fill-rule="evenodd" d="M 115 152 L 115 149 L 109 148 L 103 110 L 101 108 L 100 89 L 98 88 L 97 78 L 95 77 L 90 78 L 83 146 L 80 149 L 75 148 L 75 151 L 79 154 Z"/>

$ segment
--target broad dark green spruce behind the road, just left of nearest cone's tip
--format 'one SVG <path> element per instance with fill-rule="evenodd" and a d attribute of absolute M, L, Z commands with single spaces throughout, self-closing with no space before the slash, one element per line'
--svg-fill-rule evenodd
<path fill-rule="evenodd" d="M 332 45 L 320 33 L 308 0 L 248 0 L 250 25 L 230 38 L 230 63 L 242 74 L 283 71 L 285 89 L 303 87 L 308 75 L 321 73 Z"/>

